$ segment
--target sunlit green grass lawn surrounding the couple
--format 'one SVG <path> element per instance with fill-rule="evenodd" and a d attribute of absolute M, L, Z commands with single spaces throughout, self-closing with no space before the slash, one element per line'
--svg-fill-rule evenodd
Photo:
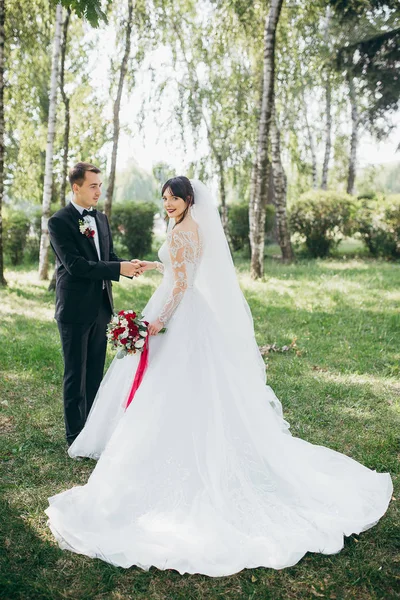
<path fill-rule="evenodd" d="M 66 454 L 53 295 L 36 271 L 9 270 L 9 288 L 0 292 L 2 599 L 400 598 L 400 266 L 342 257 L 285 266 L 268 258 L 259 282 L 246 260 L 237 267 L 259 345 L 297 338 L 296 349 L 267 361 L 293 434 L 390 471 L 395 493 L 387 515 L 347 538 L 340 554 L 307 554 L 283 571 L 216 579 L 124 570 L 62 552 L 46 526 L 47 498 L 84 484 L 94 462 Z M 141 309 L 158 281 L 151 273 L 115 284 L 116 308 Z"/>

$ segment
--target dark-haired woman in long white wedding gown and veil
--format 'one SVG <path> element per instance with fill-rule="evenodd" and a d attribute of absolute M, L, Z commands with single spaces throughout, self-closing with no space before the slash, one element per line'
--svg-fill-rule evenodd
<path fill-rule="evenodd" d="M 49 499 L 50 528 L 113 565 L 210 576 L 339 552 L 385 513 L 390 475 L 289 433 L 207 188 L 174 177 L 162 193 L 148 369 L 125 410 L 139 358 L 114 359 L 69 449 L 98 463 Z"/>

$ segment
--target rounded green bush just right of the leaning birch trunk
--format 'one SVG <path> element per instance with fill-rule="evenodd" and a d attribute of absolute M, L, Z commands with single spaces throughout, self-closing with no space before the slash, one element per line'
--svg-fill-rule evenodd
<path fill-rule="evenodd" d="M 354 212 L 354 200 L 348 194 L 306 192 L 292 206 L 290 229 L 304 240 L 310 256 L 328 256 L 344 236 L 350 235 Z"/>

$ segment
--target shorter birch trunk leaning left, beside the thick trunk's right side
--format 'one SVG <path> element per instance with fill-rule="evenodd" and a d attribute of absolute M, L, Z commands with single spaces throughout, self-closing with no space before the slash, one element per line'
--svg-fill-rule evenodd
<path fill-rule="evenodd" d="M 294 258 L 290 232 L 286 214 L 286 175 L 281 160 L 280 134 L 276 122 L 275 106 L 271 117 L 271 158 L 272 174 L 275 192 L 276 222 L 278 228 L 278 243 L 284 261 Z"/>

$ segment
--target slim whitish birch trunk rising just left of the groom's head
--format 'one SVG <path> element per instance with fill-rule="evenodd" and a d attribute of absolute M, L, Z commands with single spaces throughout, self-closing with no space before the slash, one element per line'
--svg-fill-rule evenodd
<path fill-rule="evenodd" d="M 49 270 L 49 231 L 51 192 L 53 185 L 53 151 L 56 133 L 56 108 L 57 108 L 57 80 L 61 46 L 62 6 L 57 4 L 56 22 L 53 41 L 53 56 L 51 62 L 51 81 L 49 98 L 49 121 L 46 144 L 46 166 L 44 173 L 43 201 L 42 201 L 42 235 L 40 238 L 39 254 L 39 279 L 48 278 Z"/>

